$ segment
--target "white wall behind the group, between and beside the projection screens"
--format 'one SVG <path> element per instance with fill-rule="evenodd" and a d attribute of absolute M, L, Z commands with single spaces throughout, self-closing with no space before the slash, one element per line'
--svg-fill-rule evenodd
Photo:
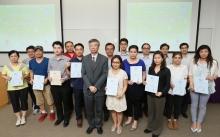
<path fill-rule="evenodd" d="M 64 41 L 81 42 L 86 47 L 91 38 L 100 41 L 100 53 L 105 54 L 104 45 L 112 42 L 118 50 L 118 0 L 62 0 Z M 220 1 L 202 0 L 200 28 L 213 28 L 211 48 L 214 57 L 220 62 Z M 88 48 L 85 54 L 88 54 Z M 45 54 L 52 57 L 53 54 Z M 21 54 L 21 60 L 27 57 Z M 7 54 L 0 54 L 0 59 L 8 60 Z M 0 71 L 2 69 L 0 61 Z"/>

